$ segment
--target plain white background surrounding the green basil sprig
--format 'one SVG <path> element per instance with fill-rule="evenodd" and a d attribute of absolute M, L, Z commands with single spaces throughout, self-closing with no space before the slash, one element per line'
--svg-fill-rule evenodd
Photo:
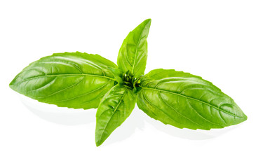
<path fill-rule="evenodd" d="M 1 1 L 0 167 L 256 167 L 255 1 Z M 95 109 L 58 108 L 8 83 L 54 52 L 116 62 L 123 39 L 151 18 L 146 73 L 176 69 L 212 81 L 248 116 L 223 130 L 163 125 L 135 107 L 95 146 Z"/>

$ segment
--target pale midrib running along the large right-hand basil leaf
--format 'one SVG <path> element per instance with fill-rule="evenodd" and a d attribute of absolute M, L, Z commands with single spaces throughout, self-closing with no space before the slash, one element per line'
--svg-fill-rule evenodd
<path fill-rule="evenodd" d="M 229 111 L 225 111 L 224 109 L 220 109 L 218 108 L 217 106 L 213 106 L 212 104 L 208 104 L 207 102 L 203 102 L 201 100 L 198 100 L 198 99 L 195 99 L 194 97 L 188 97 L 184 94 L 179 94 L 179 93 L 176 93 L 176 92 L 170 92 L 168 90 L 159 90 L 159 89 L 155 89 L 155 88 L 151 88 L 151 87 L 142 87 L 142 89 L 145 89 L 145 90 L 156 90 L 156 91 L 159 91 L 159 92 L 167 92 L 167 93 L 170 93 L 170 94 L 175 94 L 177 96 L 180 96 L 180 97 L 184 97 L 184 98 L 187 98 L 187 99 L 191 99 L 191 100 L 194 100 L 196 102 L 201 102 L 202 104 L 206 104 L 208 106 L 211 106 L 213 107 L 214 109 L 217 109 L 218 111 L 223 111 L 224 113 L 227 113 L 229 114 L 230 116 L 234 116 L 234 117 L 238 117 L 238 118 L 241 118 L 240 116 L 236 116 L 234 115 L 233 113 L 230 113 Z"/>

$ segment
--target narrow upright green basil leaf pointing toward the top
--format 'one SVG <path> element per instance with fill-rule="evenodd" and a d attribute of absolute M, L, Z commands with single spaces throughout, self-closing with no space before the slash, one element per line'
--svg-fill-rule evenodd
<path fill-rule="evenodd" d="M 144 20 L 130 31 L 119 50 L 117 64 L 123 72 L 130 71 L 135 78 L 144 74 L 147 64 L 147 36 L 151 19 Z"/>

